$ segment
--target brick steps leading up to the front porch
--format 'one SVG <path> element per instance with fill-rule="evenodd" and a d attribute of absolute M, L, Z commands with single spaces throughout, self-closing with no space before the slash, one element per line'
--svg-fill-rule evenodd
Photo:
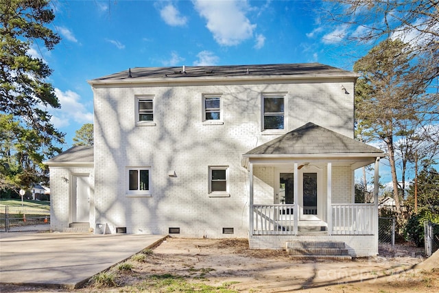
<path fill-rule="evenodd" d="M 293 241 L 287 242 L 286 250 L 289 256 L 295 259 L 352 259 L 344 242 Z"/>

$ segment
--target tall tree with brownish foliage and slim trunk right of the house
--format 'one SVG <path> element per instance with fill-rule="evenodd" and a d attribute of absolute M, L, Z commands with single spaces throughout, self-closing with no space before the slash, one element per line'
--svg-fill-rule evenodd
<path fill-rule="evenodd" d="M 423 95 L 427 88 L 424 68 L 415 57 L 410 46 L 401 40 L 384 40 L 354 65 L 354 71 L 361 73 L 356 87 L 356 123 L 385 145 L 397 213 L 401 211 L 401 202 L 394 141 L 417 128 L 429 106 Z"/>

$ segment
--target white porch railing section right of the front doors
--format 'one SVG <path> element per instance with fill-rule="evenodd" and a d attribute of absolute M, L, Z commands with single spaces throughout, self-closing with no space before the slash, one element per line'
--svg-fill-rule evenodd
<path fill-rule="evenodd" d="M 375 204 L 332 204 L 333 235 L 373 235 Z"/>

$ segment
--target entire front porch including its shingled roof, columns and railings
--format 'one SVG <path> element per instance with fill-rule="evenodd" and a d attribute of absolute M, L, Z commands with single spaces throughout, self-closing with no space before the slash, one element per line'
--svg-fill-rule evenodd
<path fill-rule="evenodd" d="M 351 256 L 378 254 L 381 150 L 306 124 L 243 156 L 250 248 L 344 242 Z M 355 169 L 375 163 L 374 201 L 355 203 Z"/>

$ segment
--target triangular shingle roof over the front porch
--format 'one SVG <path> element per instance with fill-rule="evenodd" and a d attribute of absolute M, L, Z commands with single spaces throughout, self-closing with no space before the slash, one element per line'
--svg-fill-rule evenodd
<path fill-rule="evenodd" d="M 246 154 L 383 154 L 383 151 L 309 122 Z"/>

